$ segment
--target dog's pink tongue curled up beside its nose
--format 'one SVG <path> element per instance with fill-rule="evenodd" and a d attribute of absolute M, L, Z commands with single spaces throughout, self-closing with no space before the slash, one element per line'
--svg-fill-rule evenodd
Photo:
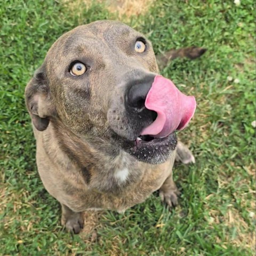
<path fill-rule="evenodd" d="M 156 76 L 147 94 L 145 107 L 156 111 L 157 118 L 142 130 L 141 135 L 166 137 L 188 125 L 196 110 L 196 100 L 181 93 L 171 80 Z"/>

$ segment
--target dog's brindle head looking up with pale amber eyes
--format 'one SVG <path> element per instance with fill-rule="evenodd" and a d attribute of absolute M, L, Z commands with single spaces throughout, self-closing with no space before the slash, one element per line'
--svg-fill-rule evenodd
<path fill-rule="evenodd" d="M 157 94 L 151 88 L 156 77 L 162 79 L 157 73 L 145 36 L 120 22 L 93 22 L 52 45 L 26 87 L 27 108 L 39 131 L 57 120 L 88 140 L 111 143 L 140 161 L 158 164 L 174 150 L 176 137 L 170 125 L 169 132 L 162 131 L 165 121 L 156 122 L 162 109 L 145 107 L 149 91 Z M 148 99 L 148 105 L 154 101 Z"/>

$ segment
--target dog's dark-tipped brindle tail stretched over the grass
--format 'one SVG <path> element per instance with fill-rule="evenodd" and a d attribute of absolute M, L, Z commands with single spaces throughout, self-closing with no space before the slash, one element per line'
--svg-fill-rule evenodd
<path fill-rule="evenodd" d="M 181 49 L 173 49 L 164 53 L 160 53 L 156 56 L 157 64 L 159 69 L 162 69 L 167 66 L 167 63 L 170 60 L 174 60 L 176 58 L 189 58 L 190 60 L 194 60 L 206 52 L 207 49 L 202 47 L 186 47 Z"/>

